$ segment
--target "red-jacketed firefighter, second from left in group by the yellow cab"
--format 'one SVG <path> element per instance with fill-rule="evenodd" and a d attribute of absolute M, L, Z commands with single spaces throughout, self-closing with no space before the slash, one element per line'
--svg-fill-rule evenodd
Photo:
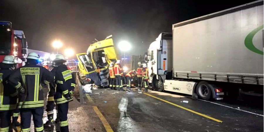
<path fill-rule="evenodd" d="M 124 91 L 123 90 L 123 69 L 120 66 L 121 61 L 117 60 L 116 65 L 114 66 L 114 72 L 116 77 L 116 88 L 118 91 Z"/>

